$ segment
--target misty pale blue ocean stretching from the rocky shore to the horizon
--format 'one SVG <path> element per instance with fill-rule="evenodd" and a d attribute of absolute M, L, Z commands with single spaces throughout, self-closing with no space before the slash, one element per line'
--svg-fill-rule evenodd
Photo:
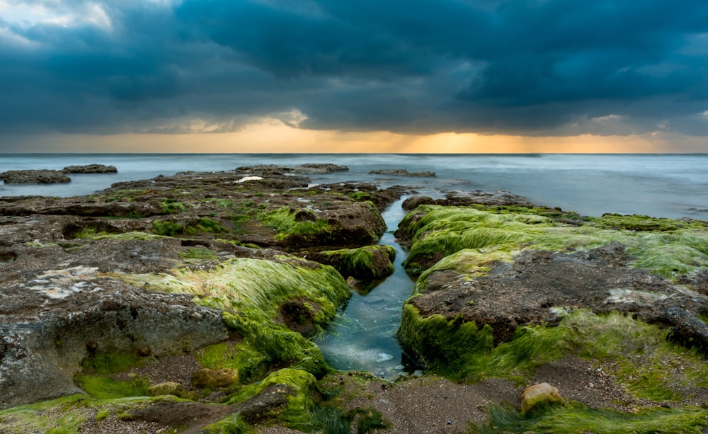
<path fill-rule="evenodd" d="M 708 220 L 708 154 L 0 154 L 0 172 L 106 164 L 111 174 L 74 174 L 70 184 L 0 185 L 0 196 L 74 196 L 112 183 L 180 171 L 229 171 L 253 164 L 343 164 L 350 171 L 312 183 L 410 185 L 442 197 L 450 190 L 506 190 L 581 215 L 605 212 Z M 433 171 L 436 178 L 369 175 L 374 169 Z"/>

